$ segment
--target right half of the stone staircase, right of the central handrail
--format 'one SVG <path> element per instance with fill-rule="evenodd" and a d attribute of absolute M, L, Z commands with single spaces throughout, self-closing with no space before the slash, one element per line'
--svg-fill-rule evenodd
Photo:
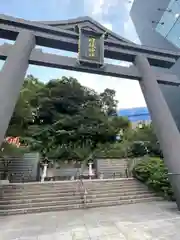
<path fill-rule="evenodd" d="M 162 200 L 144 184 L 133 178 L 103 179 L 85 182 L 86 207 L 113 206 Z"/>

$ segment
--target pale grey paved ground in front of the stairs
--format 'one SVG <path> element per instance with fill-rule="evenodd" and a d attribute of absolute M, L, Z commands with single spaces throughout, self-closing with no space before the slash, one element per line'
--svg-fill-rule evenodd
<path fill-rule="evenodd" d="M 2 240 L 179 240 L 180 212 L 168 202 L 0 218 Z"/>

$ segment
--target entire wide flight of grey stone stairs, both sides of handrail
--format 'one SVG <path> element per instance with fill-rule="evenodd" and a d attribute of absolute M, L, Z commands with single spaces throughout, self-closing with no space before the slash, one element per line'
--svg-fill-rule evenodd
<path fill-rule="evenodd" d="M 0 186 L 0 215 L 92 208 L 160 199 L 132 178 L 17 183 Z"/>

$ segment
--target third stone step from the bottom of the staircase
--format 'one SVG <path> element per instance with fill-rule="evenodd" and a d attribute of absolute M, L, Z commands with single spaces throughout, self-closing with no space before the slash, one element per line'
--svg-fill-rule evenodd
<path fill-rule="evenodd" d="M 136 195 L 136 194 L 147 194 L 150 193 L 149 191 L 127 191 L 127 192 L 88 192 L 88 199 L 93 199 L 94 197 L 108 197 L 108 196 L 130 196 L 130 195 Z M 69 199 L 80 199 L 82 197 L 82 194 L 76 194 L 76 195 L 33 195 L 33 196 L 25 196 L 24 198 L 2 198 L 0 200 L 0 205 L 6 205 L 6 204 L 16 204 L 16 203 L 30 203 L 30 202 L 44 202 L 44 201 L 51 201 L 52 199 L 56 201 L 61 200 L 69 200 Z"/>

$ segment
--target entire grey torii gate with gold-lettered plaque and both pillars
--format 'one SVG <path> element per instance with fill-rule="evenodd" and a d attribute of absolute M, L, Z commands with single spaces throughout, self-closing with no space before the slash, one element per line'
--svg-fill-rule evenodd
<path fill-rule="evenodd" d="M 0 46 L 5 63 L 0 72 L 0 144 L 8 128 L 29 64 L 138 80 L 159 139 L 180 210 L 180 134 L 158 83 L 180 85 L 170 68 L 180 52 L 136 45 L 89 17 L 57 22 L 31 22 L 0 15 Z M 36 45 L 78 52 L 78 58 L 47 54 Z M 130 67 L 104 64 L 104 57 L 132 62 Z"/>

